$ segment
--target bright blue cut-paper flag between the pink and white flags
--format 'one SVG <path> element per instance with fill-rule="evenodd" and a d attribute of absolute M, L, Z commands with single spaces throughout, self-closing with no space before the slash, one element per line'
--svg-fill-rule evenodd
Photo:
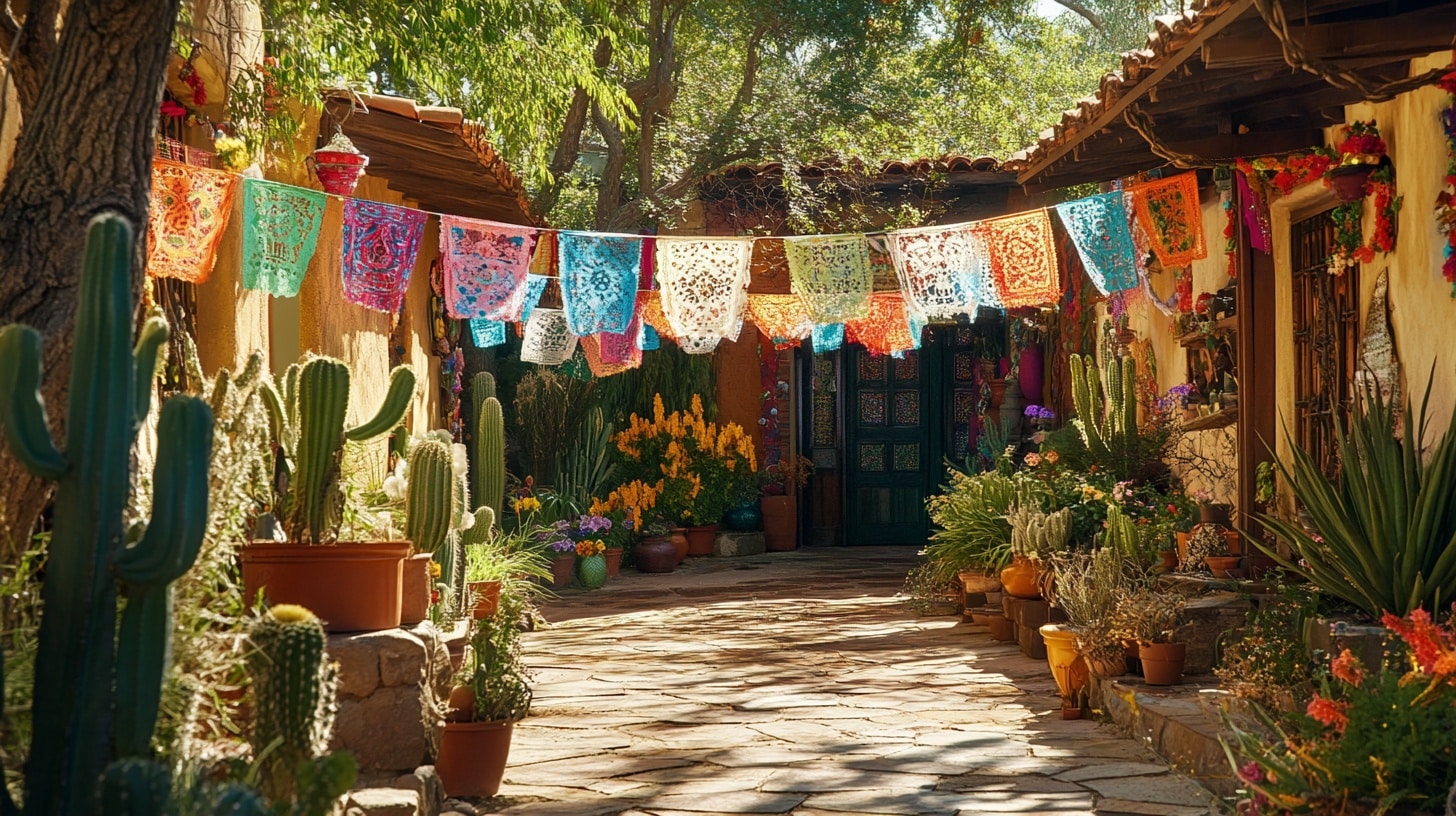
<path fill-rule="evenodd" d="M 561 300 L 577 335 L 626 331 L 636 307 L 642 239 L 584 232 L 556 235 Z"/>

